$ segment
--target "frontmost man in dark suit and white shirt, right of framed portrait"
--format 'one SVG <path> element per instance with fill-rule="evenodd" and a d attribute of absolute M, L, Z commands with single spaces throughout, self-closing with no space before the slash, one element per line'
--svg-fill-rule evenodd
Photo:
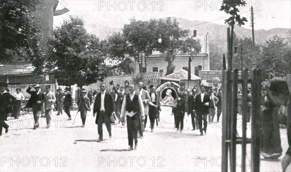
<path fill-rule="evenodd" d="M 204 85 L 200 86 L 201 93 L 196 96 L 195 109 L 198 120 L 200 135 L 203 136 L 203 131 L 206 134 L 207 129 L 207 115 L 209 113 L 209 105 L 211 103 L 210 96 L 205 92 Z M 203 119 L 203 129 L 202 129 Z"/>

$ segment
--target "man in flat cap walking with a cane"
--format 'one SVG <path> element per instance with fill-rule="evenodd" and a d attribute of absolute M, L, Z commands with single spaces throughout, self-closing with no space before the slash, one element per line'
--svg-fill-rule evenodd
<path fill-rule="evenodd" d="M 90 99 L 86 96 L 87 91 L 83 88 L 81 91 L 82 96 L 78 100 L 78 112 L 80 111 L 82 126 L 85 127 L 85 121 L 87 116 L 87 111 L 91 111 Z"/>

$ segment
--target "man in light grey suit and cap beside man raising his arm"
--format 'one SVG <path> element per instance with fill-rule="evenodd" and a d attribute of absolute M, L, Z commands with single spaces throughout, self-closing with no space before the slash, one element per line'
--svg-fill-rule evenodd
<path fill-rule="evenodd" d="M 47 128 L 50 127 L 51 114 L 54 109 L 54 103 L 56 102 L 56 96 L 53 92 L 50 91 L 50 86 L 46 86 L 45 95 L 45 113 L 47 118 Z"/>

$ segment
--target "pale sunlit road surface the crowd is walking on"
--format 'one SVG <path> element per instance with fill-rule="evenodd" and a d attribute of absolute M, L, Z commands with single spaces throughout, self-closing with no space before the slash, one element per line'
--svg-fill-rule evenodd
<path fill-rule="evenodd" d="M 92 113 L 88 113 L 86 127 L 81 128 L 81 117 L 74 126 L 67 116 L 53 115 L 52 124 L 46 129 L 45 118 L 41 126 L 32 130 L 32 114 L 19 120 L 9 120 L 9 133 L 0 137 L 0 172 L 30 171 L 221 171 L 221 123 L 209 125 L 206 136 L 191 131 L 191 118 L 185 116 L 183 133 L 174 129 L 174 117 L 170 108 L 163 107 L 161 123 L 154 132 L 146 128 L 139 139 L 138 150 L 126 151 L 127 129 L 112 126 L 113 138 L 109 138 L 103 126 L 104 141 L 98 138 L 97 125 Z M 77 111 L 72 111 L 73 119 Z M 187 120 L 187 122 L 186 122 Z M 149 123 L 147 124 L 149 126 Z M 240 126 L 238 125 L 238 128 Z M 248 135 L 250 130 L 248 130 Z M 287 150 L 286 129 L 281 129 L 284 152 Z M 240 146 L 238 171 L 240 170 Z M 281 170 L 280 160 L 261 161 L 262 172 Z M 247 171 L 250 172 L 250 146 L 247 147 Z"/>

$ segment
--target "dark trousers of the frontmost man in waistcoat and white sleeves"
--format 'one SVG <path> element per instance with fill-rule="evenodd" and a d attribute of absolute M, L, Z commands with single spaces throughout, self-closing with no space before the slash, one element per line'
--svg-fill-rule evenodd
<path fill-rule="evenodd" d="M 133 140 L 135 145 L 137 144 L 137 131 L 139 129 L 139 116 L 135 114 L 133 117 L 126 117 L 129 146 L 133 146 Z"/>

